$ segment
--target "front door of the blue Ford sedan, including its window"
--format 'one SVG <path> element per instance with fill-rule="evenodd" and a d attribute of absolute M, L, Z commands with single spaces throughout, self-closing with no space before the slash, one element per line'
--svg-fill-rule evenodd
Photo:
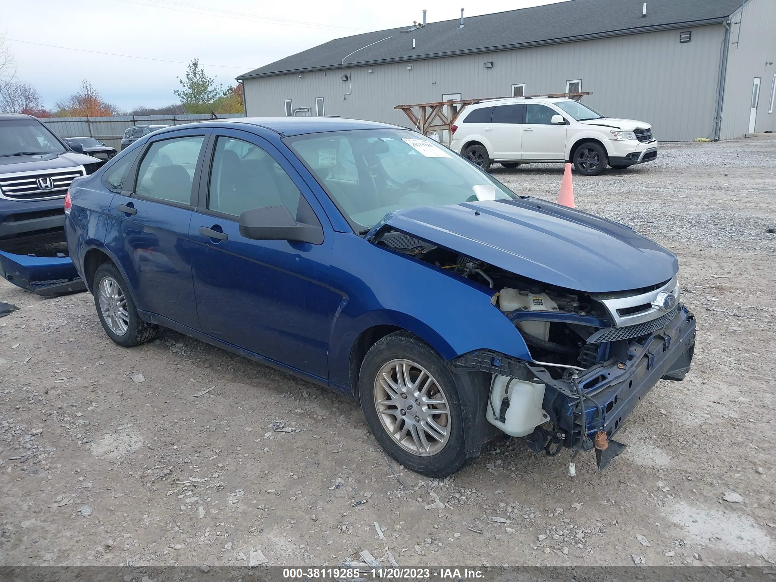
<path fill-rule="evenodd" d="M 317 213 L 323 244 L 242 236 L 243 210 L 282 205 L 293 217 L 308 215 L 314 196 L 266 140 L 237 130 L 218 133 L 189 228 L 202 331 L 327 378 L 331 317 L 342 299 L 327 287 L 331 226 Z"/>

